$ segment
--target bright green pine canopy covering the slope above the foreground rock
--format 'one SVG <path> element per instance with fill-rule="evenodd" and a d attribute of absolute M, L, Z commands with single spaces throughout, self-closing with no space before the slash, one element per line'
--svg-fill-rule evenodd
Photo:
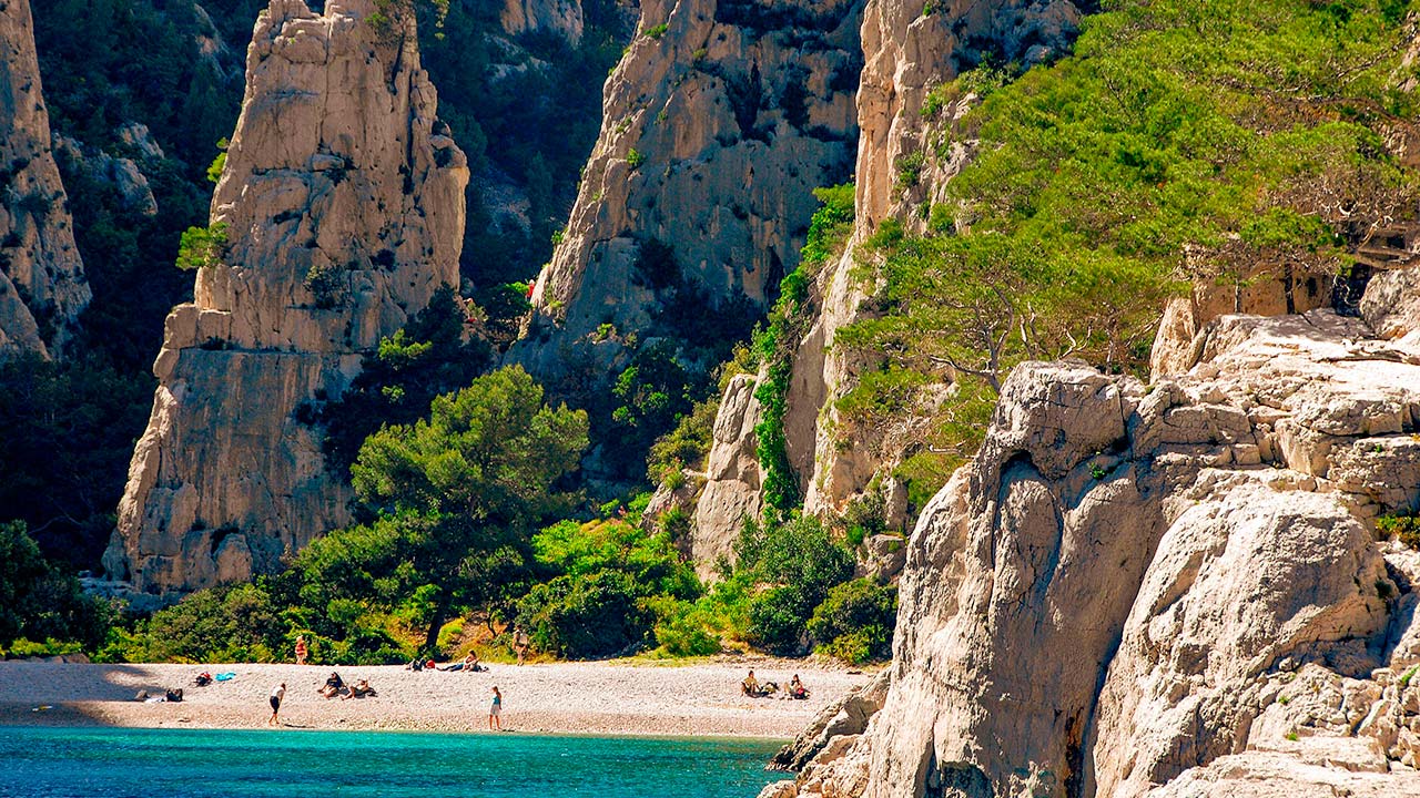
<path fill-rule="evenodd" d="M 883 436 L 930 419 L 906 454 L 939 471 L 974 450 L 1017 364 L 1143 372 L 1186 281 L 1336 270 L 1352 230 L 1413 220 L 1420 180 L 1380 143 L 1413 116 L 1393 81 L 1409 38 L 1382 6 L 1115 3 L 1054 65 L 983 62 L 934 88 L 941 148 L 977 155 L 924 209 L 927 234 L 889 220 L 861 253 L 873 312 L 835 345 L 883 362 L 838 409 Z M 896 166 L 899 189 L 922 176 Z M 924 469 L 922 450 L 943 457 Z"/>

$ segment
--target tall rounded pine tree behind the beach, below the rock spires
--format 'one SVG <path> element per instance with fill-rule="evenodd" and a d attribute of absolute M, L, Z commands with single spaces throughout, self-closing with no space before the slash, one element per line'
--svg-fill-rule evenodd
<path fill-rule="evenodd" d="M 454 609 L 496 599 L 507 551 L 568 505 L 552 484 L 586 447 L 586 413 L 542 405 L 542 388 L 520 366 L 439 396 L 427 420 L 386 426 L 351 467 L 356 494 L 413 530 L 406 554 L 436 588 L 426 647 Z M 408 599 L 408 589 L 399 591 Z"/>

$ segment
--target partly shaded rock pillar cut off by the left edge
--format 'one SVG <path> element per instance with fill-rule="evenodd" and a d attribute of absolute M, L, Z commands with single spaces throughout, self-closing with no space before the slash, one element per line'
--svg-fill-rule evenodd
<path fill-rule="evenodd" d="M 62 352 L 91 298 L 51 151 L 30 0 L 0 3 L 0 356 Z"/>

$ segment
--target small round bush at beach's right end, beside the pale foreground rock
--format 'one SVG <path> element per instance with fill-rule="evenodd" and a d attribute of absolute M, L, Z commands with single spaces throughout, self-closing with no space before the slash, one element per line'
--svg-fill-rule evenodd
<path fill-rule="evenodd" d="M 861 665 L 892 656 L 897 589 L 873 579 L 853 579 L 828 592 L 808 621 L 815 650 Z"/>

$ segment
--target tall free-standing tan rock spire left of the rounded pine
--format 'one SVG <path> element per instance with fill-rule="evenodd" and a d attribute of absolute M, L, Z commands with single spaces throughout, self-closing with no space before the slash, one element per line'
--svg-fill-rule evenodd
<path fill-rule="evenodd" d="M 457 284 L 463 153 L 436 119 L 413 20 L 372 0 L 271 0 L 212 202 L 227 244 L 168 317 L 112 575 L 151 594 L 243 579 L 349 520 L 295 417 Z"/>

